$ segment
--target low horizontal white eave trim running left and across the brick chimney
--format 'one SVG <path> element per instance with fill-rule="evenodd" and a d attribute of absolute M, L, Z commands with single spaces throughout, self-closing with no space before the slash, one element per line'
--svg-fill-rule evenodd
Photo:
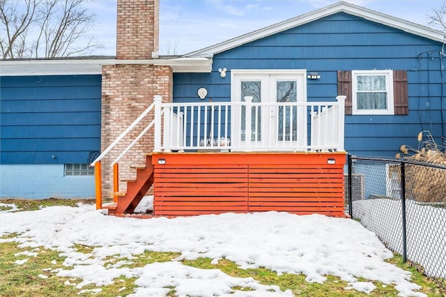
<path fill-rule="evenodd" d="M 174 73 L 210 73 L 212 70 L 212 59 L 204 58 L 2 60 L 0 61 L 0 76 L 100 75 L 104 65 L 130 64 L 171 66 Z"/>

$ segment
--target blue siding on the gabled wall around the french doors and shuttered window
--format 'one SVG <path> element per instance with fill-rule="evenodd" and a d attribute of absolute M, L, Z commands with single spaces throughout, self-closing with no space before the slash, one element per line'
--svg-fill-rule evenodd
<path fill-rule="evenodd" d="M 346 115 L 345 148 L 357 155 L 394 155 L 402 144 L 417 147 L 417 134 L 445 134 L 442 44 L 399 29 L 337 13 L 213 56 L 210 74 L 174 74 L 174 102 L 231 100 L 233 69 L 307 69 L 307 100 L 334 100 L 338 70 L 407 70 L 409 114 Z M 220 77 L 219 68 L 226 68 Z M 206 100 L 208 100 L 206 98 Z"/>

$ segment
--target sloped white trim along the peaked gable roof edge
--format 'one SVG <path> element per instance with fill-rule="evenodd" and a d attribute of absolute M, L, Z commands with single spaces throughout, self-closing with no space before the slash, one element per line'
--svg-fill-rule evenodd
<path fill-rule="evenodd" d="M 408 33 L 413 33 L 417 36 L 422 36 L 424 38 L 435 40 L 440 43 L 445 43 L 445 40 L 446 40 L 445 33 L 441 32 L 441 31 L 431 29 L 429 27 L 422 26 L 420 24 L 415 24 L 413 22 L 408 22 L 406 20 L 401 20 L 397 17 L 392 17 L 391 15 L 385 15 L 384 13 L 378 13 L 375 10 L 370 10 L 368 8 L 355 6 L 351 3 L 341 1 L 338 3 L 334 3 L 331 6 L 327 6 L 325 8 L 314 10 L 310 13 L 306 13 L 306 14 L 300 15 L 298 17 L 293 17 L 289 20 L 285 20 L 284 22 L 272 24 L 271 26 L 267 26 L 263 29 L 252 31 L 251 33 L 246 33 L 242 36 L 238 36 L 236 38 L 226 40 L 222 43 L 217 43 L 217 45 L 211 45 L 210 47 L 205 47 L 202 50 L 190 52 L 189 54 L 185 54 L 184 56 L 189 56 L 189 57 L 191 57 L 191 56 L 210 56 L 211 57 L 214 54 L 218 54 L 218 53 L 224 52 L 226 50 L 231 50 L 232 48 L 238 47 L 245 43 L 250 43 L 254 40 L 258 40 L 260 38 L 271 36 L 275 33 L 286 31 L 286 30 L 294 28 L 296 26 L 301 26 L 302 24 L 307 24 L 309 22 L 313 22 L 313 21 L 321 19 L 323 17 L 327 17 L 328 15 L 333 15 L 335 13 L 340 13 L 340 12 L 348 13 L 350 15 L 355 15 L 357 17 L 362 17 L 366 20 L 370 20 L 372 22 L 377 22 L 379 24 L 385 24 L 387 26 L 392 26 L 396 29 L 406 31 Z"/>

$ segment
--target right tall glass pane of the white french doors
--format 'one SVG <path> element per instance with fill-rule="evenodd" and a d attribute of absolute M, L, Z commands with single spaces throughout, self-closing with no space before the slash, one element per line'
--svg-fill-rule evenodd
<path fill-rule="evenodd" d="M 277 102 L 298 102 L 296 81 L 277 81 Z M 292 137 L 292 138 L 291 138 Z M 298 107 L 280 106 L 277 119 L 277 140 L 298 140 Z"/>

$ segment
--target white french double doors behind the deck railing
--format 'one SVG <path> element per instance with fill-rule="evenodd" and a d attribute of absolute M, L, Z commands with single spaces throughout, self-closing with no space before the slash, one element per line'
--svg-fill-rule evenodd
<path fill-rule="evenodd" d="M 246 96 L 251 96 L 254 103 L 250 119 L 254 147 L 306 144 L 306 107 L 290 106 L 291 102 L 307 100 L 306 76 L 306 70 L 231 70 L 231 100 L 244 102 Z M 259 102 L 262 105 L 255 104 Z M 245 106 L 241 106 L 231 113 L 234 146 L 244 146 L 249 140 L 245 112 Z"/>

